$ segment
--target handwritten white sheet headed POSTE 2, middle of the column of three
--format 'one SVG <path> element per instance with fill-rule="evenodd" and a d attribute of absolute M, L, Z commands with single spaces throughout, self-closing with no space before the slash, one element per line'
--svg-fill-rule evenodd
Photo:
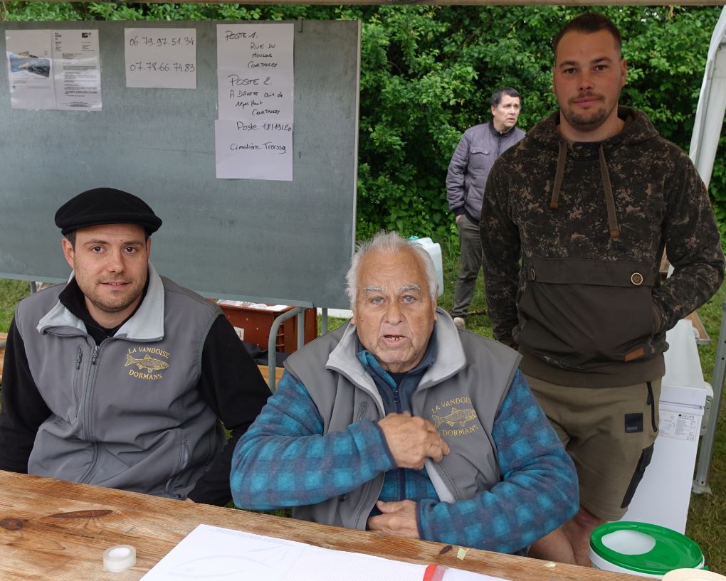
<path fill-rule="evenodd" d="M 250 73 L 243 69 L 218 69 L 219 118 L 292 120 L 293 78 L 290 71 Z"/>

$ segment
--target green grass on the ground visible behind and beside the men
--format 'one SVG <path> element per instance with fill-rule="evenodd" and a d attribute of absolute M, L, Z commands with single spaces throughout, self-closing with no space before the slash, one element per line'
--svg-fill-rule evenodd
<path fill-rule="evenodd" d="M 456 240 L 444 242 L 442 253 L 444 256 L 444 294 L 439 298 L 439 305 L 446 310 L 452 308 L 454 281 L 459 268 L 458 244 Z M 28 294 L 28 283 L 24 281 L 10 281 L 0 279 L 0 331 L 7 332 L 12 319 L 15 303 L 25 294 Z M 701 321 L 711 337 L 711 345 L 699 347 L 701 366 L 706 381 L 711 382 L 716 347 L 719 339 L 719 330 L 722 316 L 722 305 L 725 297 L 725 288 L 698 310 Z M 492 337 L 492 325 L 486 316 L 486 299 L 481 280 L 477 282 L 474 293 L 472 314 L 467 321 L 467 328 L 476 333 Z M 343 324 L 343 319 L 328 318 L 328 329 L 331 331 Z M 722 408 L 724 407 L 722 402 Z M 714 455 L 709 474 L 709 485 L 712 494 L 691 495 L 690 509 L 688 511 L 688 526 L 686 535 L 701 546 L 706 557 L 706 565 L 712 571 L 726 572 L 726 416 L 719 413 L 717 436 L 714 445 Z M 286 514 L 286 513 L 283 513 Z"/>

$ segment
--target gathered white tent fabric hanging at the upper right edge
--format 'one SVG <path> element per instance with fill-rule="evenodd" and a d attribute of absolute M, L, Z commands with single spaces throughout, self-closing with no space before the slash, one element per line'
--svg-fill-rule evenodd
<path fill-rule="evenodd" d="M 698 97 L 696 124 L 690 139 L 690 159 L 701 179 L 709 185 L 716 149 L 726 112 L 726 7 L 714 28 L 706 59 L 706 71 Z"/>

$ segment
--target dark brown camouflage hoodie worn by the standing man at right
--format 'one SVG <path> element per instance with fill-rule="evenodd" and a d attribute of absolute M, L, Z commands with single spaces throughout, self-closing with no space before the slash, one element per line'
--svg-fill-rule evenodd
<path fill-rule="evenodd" d="M 559 112 L 499 157 L 481 213 L 494 336 L 526 374 L 621 387 L 664 374 L 665 332 L 719 288 L 724 257 L 706 187 L 640 111 L 568 143 Z M 674 273 L 661 284 L 666 248 Z"/>

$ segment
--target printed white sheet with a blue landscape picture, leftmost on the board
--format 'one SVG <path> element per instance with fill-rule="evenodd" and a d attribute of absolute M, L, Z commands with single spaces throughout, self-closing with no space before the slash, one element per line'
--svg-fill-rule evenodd
<path fill-rule="evenodd" d="M 6 30 L 13 109 L 55 109 L 50 30 Z"/>

